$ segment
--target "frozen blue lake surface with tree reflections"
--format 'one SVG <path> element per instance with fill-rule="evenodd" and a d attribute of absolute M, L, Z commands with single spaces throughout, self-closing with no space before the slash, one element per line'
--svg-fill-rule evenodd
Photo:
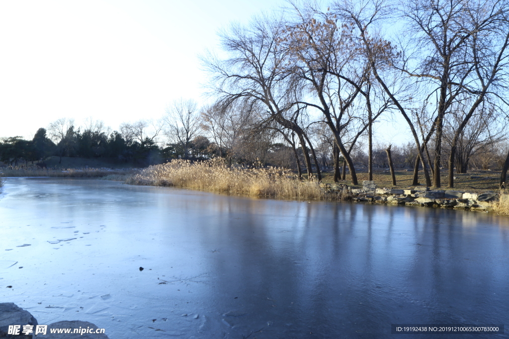
<path fill-rule="evenodd" d="M 391 324 L 508 327 L 509 218 L 8 178 L 0 302 L 39 324 L 90 321 L 110 339 L 384 338 L 394 337 Z"/>

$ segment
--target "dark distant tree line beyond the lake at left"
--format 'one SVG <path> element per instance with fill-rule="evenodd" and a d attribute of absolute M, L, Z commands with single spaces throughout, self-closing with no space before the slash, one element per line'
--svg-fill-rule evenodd
<path fill-rule="evenodd" d="M 0 143 L 0 161 L 10 166 L 44 163 L 50 156 L 108 158 L 119 163 L 139 166 L 158 164 L 169 159 L 205 159 L 209 157 L 207 138 L 197 136 L 187 147 L 167 143 L 160 146 L 156 140 L 159 131 L 146 135 L 148 123 L 122 124 L 122 132 L 109 132 L 96 121 L 84 128 L 75 128 L 74 121 L 62 118 L 52 122 L 48 129 L 40 128 L 32 140 L 8 137 Z"/>

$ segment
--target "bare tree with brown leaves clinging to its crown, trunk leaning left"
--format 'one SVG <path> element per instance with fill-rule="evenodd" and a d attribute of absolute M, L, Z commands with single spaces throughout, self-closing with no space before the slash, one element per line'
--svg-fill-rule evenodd
<path fill-rule="evenodd" d="M 313 96 L 299 103 L 323 114 L 335 143 L 345 159 L 352 183 L 358 184 L 354 163 L 342 140 L 342 130 L 352 119 L 349 108 L 365 83 L 365 67 L 356 63 L 357 48 L 345 27 L 330 12 L 314 6 L 294 5 L 295 22 L 287 24 L 279 44 L 289 51 L 289 69 L 294 86 L 308 89 Z M 357 72 L 357 68 L 361 71 Z"/>

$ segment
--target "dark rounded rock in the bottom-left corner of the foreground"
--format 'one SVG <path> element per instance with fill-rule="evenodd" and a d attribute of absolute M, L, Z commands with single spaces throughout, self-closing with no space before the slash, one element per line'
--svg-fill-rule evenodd
<path fill-rule="evenodd" d="M 21 325 L 19 335 L 8 335 L 9 325 Z M 0 338 L 32 339 L 32 334 L 22 334 L 23 325 L 38 325 L 37 320 L 28 311 L 13 302 L 0 303 Z M 34 327 L 35 333 L 35 327 Z"/>

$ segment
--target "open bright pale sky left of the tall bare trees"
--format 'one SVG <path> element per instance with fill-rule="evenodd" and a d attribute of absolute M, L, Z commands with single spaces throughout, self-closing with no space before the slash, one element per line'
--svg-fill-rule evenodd
<path fill-rule="evenodd" d="M 159 118 L 180 97 L 201 102 L 197 55 L 217 31 L 276 1 L 0 0 L 0 137 L 32 138 L 61 117 Z"/>

